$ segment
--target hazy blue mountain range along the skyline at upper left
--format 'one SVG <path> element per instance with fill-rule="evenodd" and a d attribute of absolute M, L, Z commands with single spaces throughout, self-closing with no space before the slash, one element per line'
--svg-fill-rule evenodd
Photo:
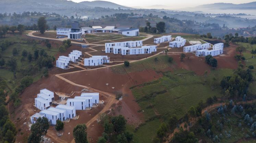
<path fill-rule="evenodd" d="M 0 0 L 0 13 L 19 13 L 24 11 L 36 12 L 56 12 L 59 14 L 70 15 L 71 13 L 84 11 L 94 7 L 110 9 L 133 9 L 108 1 L 84 1 L 76 3 L 68 0 Z"/>

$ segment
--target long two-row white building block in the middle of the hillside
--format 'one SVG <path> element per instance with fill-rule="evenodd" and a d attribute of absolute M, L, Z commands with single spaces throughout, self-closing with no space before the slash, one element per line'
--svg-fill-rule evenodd
<path fill-rule="evenodd" d="M 126 42 L 115 42 L 105 43 L 105 52 L 130 55 L 130 54 L 148 54 L 157 51 L 157 46 L 149 45 L 142 46 L 142 41 L 126 41 Z"/>

